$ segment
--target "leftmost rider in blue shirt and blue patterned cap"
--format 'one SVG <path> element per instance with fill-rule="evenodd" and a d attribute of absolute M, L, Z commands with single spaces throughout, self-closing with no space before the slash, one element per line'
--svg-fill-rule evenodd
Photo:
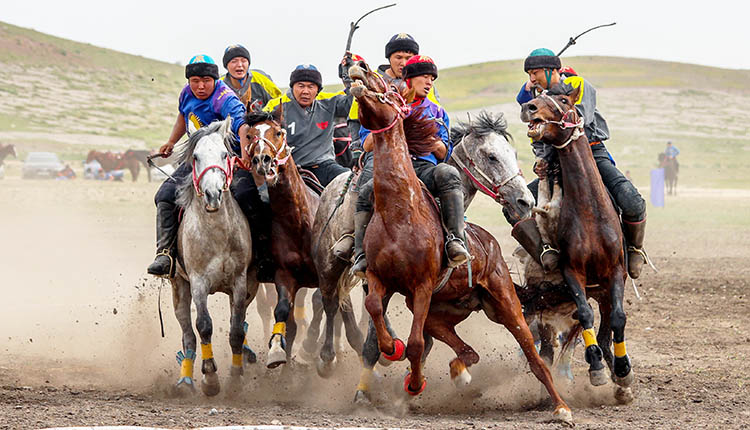
<path fill-rule="evenodd" d="M 185 78 L 188 84 L 182 89 L 179 97 L 179 113 L 172 127 L 167 143 L 159 148 L 164 156 L 169 156 L 180 138 L 187 131 L 199 129 L 217 120 L 232 118 L 234 140 L 232 149 L 240 154 L 240 142 L 248 144 L 245 124 L 245 107 L 235 93 L 219 79 L 219 67 L 208 55 L 196 55 L 185 66 Z M 175 253 L 177 229 L 179 227 L 176 205 L 177 187 L 190 181 L 192 166 L 180 165 L 159 187 L 154 201 L 156 203 L 156 259 L 148 267 L 148 273 L 157 276 L 172 277 L 175 273 Z M 260 200 L 250 172 L 238 169 L 230 187 L 232 195 L 242 212 L 248 218 L 253 232 L 254 252 L 258 256 L 258 280 L 273 281 L 273 264 L 270 259 L 270 214 Z"/>

